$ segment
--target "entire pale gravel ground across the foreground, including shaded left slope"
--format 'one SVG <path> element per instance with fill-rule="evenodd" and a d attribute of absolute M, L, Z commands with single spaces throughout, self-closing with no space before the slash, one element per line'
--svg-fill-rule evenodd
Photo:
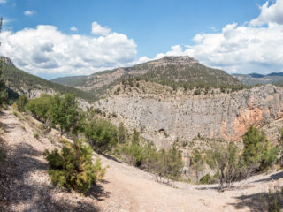
<path fill-rule="evenodd" d="M 104 181 L 88 196 L 67 193 L 51 185 L 42 156 L 56 145 L 47 138 L 35 139 L 34 126 L 11 110 L 0 114 L 0 123 L 8 150 L 7 163 L 0 169 L 0 211 L 263 211 L 256 201 L 258 193 L 283 184 L 283 172 L 277 172 L 249 178 L 245 187 L 225 193 L 219 193 L 217 185 L 175 183 L 178 188 L 173 188 L 157 183 L 145 171 L 102 156 L 103 165 L 109 165 Z"/>

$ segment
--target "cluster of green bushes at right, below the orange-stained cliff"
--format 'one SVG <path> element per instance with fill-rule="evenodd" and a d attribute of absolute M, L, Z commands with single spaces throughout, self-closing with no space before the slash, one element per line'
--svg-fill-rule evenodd
<path fill-rule="evenodd" d="M 250 126 L 242 137 L 243 148 L 239 148 L 234 142 L 219 140 L 208 150 L 195 149 L 191 155 L 191 167 L 195 171 L 197 182 L 218 183 L 220 191 L 224 191 L 232 187 L 235 181 L 271 170 L 275 164 L 282 165 L 282 138 L 283 130 L 279 145 L 272 145 L 263 131 L 259 132 L 256 127 Z M 205 166 L 211 171 L 199 179 Z"/>

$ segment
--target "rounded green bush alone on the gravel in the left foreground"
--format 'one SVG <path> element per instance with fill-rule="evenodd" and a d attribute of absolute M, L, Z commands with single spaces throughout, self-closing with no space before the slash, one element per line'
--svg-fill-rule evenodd
<path fill-rule="evenodd" d="M 50 166 L 51 181 L 56 186 L 85 193 L 105 174 L 100 159 L 93 164 L 93 150 L 89 145 L 84 146 L 81 140 L 65 144 L 61 151 L 54 149 L 50 153 L 45 150 L 44 155 Z"/>

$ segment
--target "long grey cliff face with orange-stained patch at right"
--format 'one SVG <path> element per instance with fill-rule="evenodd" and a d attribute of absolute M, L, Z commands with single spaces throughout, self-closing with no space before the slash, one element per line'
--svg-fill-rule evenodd
<path fill-rule="evenodd" d="M 125 125 L 164 147 L 175 140 L 207 138 L 240 140 L 250 125 L 264 125 L 283 117 L 283 89 L 272 85 L 233 94 L 147 98 L 114 95 L 96 102 L 116 113 Z"/>

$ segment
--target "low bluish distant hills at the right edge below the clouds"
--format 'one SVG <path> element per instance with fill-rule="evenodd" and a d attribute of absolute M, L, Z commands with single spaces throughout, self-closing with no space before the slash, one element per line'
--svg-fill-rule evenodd
<path fill-rule="evenodd" d="M 266 75 L 259 73 L 233 74 L 233 77 L 248 86 L 254 86 L 257 84 L 278 85 L 278 82 L 283 80 L 283 72 L 272 72 Z"/>

